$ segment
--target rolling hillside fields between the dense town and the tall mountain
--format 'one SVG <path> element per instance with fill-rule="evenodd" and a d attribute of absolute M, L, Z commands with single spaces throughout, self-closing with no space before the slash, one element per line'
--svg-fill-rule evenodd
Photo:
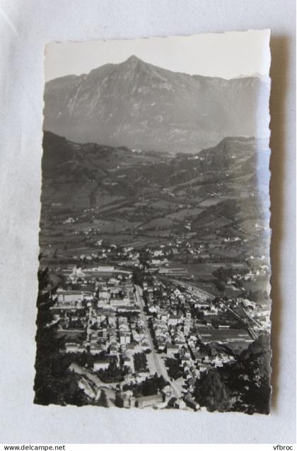
<path fill-rule="evenodd" d="M 217 295 L 214 271 L 248 268 L 254 249 L 269 238 L 255 185 L 255 146 L 255 139 L 230 138 L 197 158 L 163 156 L 74 145 L 45 133 L 43 261 L 117 264 L 120 249 L 108 254 L 110 245 L 141 251 L 162 244 L 169 268 L 186 269 L 185 280 Z M 260 189 L 268 192 L 268 182 Z M 135 259 L 127 262 L 133 266 Z M 236 292 L 230 286 L 227 291 L 231 297 Z"/>

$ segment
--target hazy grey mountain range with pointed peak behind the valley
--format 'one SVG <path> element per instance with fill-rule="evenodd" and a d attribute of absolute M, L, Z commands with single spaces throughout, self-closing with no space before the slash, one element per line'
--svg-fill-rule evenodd
<path fill-rule="evenodd" d="M 226 136 L 265 136 L 257 76 L 191 76 L 132 56 L 45 84 L 44 129 L 77 143 L 196 153 Z"/>

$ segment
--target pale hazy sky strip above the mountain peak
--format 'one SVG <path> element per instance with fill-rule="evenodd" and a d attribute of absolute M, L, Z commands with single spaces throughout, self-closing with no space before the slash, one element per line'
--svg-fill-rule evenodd
<path fill-rule="evenodd" d="M 269 30 L 137 40 L 52 42 L 45 49 L 45 81 L 88 74 L 132 54 L 171 71 L 235 78 L 269 74 Z"/>

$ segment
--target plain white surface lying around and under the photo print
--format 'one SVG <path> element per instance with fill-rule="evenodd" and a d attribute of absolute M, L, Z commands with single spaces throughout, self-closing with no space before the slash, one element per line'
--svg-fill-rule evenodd
<path fill-rule="evenodd" d="M 0 443 L 295 442 L 294 4 L 293 0 L 0 0 Z M 272 29 L 271 416 L 35 406 L 45 43 L 250 28 Z"/>

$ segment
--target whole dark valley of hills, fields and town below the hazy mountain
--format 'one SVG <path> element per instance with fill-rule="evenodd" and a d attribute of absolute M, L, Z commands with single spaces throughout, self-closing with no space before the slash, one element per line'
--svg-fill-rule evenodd
<path fill-rule="evenodd" d="M 234 138 L 156 156 L 45 132 L 40 299 L 57 341 L 51 383 L 65 379 L 45 404 L 266 413 L 270 230 L 253 187 L 257 146 Z M 64 152 L 54 171 L 53 149 Z"/>

